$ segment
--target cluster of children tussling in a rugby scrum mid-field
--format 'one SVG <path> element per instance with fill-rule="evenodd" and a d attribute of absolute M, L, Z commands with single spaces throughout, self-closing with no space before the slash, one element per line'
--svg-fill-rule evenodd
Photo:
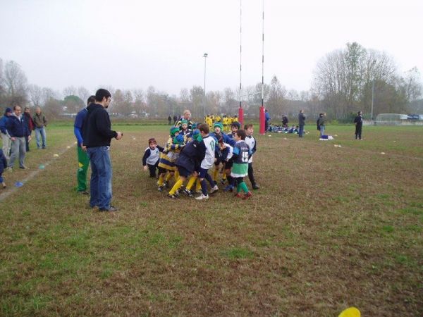
<path fill-rule="evenodd" d="M 226 134 L 223 124 L 215 122 L 213 131 L 210 130 L 207 123 L 195 125 L 190 120 L 180 120 L 180 127 L 171 128 L 164 147 L 156 139 L 149 139 L 142 164 L 151 178 L 157 178 L 158 170 L 159 192 L 169 188 L 170 199 L 177 199 L 181 194 L 197 200 L 209 199 L 209 194 L 219 191 L 219 175 L 221 184 L 225 185 L 223 191 L 235 192 L 235 197 L 252 197 L 244 182 L 247 175 L 252 188 L 259 189 L 252 169 L 252 156 L 257 149 L 253 125 L 247 124 L 241 130 L 240 123 L 235 121 L 231 123 L 231 132 Z"/>

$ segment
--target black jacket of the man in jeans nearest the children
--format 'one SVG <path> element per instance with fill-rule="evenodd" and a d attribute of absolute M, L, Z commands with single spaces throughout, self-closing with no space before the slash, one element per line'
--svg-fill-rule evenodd
<path fill-rule="evenodd" d="M 110 129 L 109 113 L 101 104 L 87 106 L 87 116 L 84 120 L 84 145 L 87 147 L 110 146 L 110 140 L 117 137 L 116 131 Z"/>

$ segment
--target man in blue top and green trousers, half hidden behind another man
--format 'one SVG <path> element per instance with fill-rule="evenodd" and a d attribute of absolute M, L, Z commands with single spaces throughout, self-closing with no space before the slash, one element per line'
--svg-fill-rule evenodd
<path fill-rule="evenodd" d="M 87 106 L 95 102 L 95 96 L 90 96 L 87 100 Z M 75 123 L 73 124 L 73 133 L 77 140 L 77 151 L 78 151 L 78 171 L 76 172 L 76 179 L 78 181 L 78 193 L 79 194 L 90 194 L 87 192 L 87 170 L 90 164 L 90 159 L 87 154 L 87 147 L 84 145 L 84 137 L 82 133 L 83 124 L 85 117 L 87 116 L 87 107 L 83 108 L 75 117 Z"/>

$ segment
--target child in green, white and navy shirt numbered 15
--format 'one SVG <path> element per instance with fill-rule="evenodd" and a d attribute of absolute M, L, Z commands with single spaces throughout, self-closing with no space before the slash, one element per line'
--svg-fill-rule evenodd
<path fill-rule="evenodd" d="M 235 147 L 233 147 L 233 166 L 231 171 L 231 177 L 235 178 L 236 183 L 236 194 L 235 197 L 242 199 L 248 199 L 252 196 L 248 190 L 247 185 L 244 182 L 244 177 L 248 175 L 248 159 L 250 159 L 252 153 L 250 147 L 245 142 L 247 136 L 245 130 L 238 130 L 235 135 Z M 245 192 L 245 195 L 241 193 Z"/>

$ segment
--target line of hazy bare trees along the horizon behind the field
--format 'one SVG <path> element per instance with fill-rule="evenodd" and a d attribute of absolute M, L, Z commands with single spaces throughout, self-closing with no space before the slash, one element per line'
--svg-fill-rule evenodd
<path fill-rule="evenodd" d="M 262 84 L 239 89 L 226 87 L 223 91 L 208 91 L 200 85 L 183 88 L 180 94 L 168 94 L 150 86 L 142 89 L 114 89 L 106 87 L 113 99 L 111 113 L 120 116 L 149 116 L 167 118 L 180 114 L 185 108 L 195 118 L 204 113 L 238 113 L 241 104 L 245 115 L 258 117 L 262 104 Z M 393 58 L 384 52 L 365 49 L 358 43 L 326 54 L 313 72 L 312 87 L 307 91 L 288 90 L 276 76 L 264 84 L 264 106 L 272 118 L 283 114 L 296 117 L 304 108 L 309 118 L 325 111 L 329 118 L 349 120 L 358 110 L 369 118 L 372 108 L 377 113 L 423 113 L 423 86 L 419 70 L 412 68 L 400 75 Z M 69 86 L 63 92 L 49 87 L 29 84 L 23 69 L 15 61 L 0 59 L 0 106 L 42 106 L 44 113 L 59 117 L 63 113 L 77 113 L 85 106 L 91 93 L 85 87 Z M 247 96 L 247 97 L 246 97 Z"/>

